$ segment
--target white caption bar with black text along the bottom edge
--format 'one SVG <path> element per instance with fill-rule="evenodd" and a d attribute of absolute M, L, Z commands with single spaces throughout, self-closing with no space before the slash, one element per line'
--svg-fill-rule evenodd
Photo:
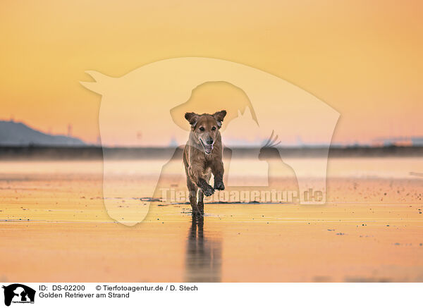
<path fill-rule="evenodd" d="M 0 307 L 412 307 L 422 283 L 3 283 Z M 23 304 L 31 304 L 30 306 Z"/>

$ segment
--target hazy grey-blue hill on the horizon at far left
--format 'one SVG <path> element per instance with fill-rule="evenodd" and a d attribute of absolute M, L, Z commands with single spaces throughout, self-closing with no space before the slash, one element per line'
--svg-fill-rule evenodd
<path fill-rule="evenodd" d="M 49 135 L 14 121 L 0 121 L 0 145 L 2 146 L 83 146 L 82 140 L 64 135 Z"/>

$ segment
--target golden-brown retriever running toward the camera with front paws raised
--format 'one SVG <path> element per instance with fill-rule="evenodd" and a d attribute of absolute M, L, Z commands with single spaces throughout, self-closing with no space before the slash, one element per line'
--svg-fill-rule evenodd
<path fill-rule="evenodd" d="M 183 164 L 194 216 L 204 214 L 204 195 L 209 197 L 213 195 L 214 190 L 225 189 L 225 185 L 223 185 L 223 147 L 219 132 L 225 116 L 225 110 L 201 115 L 193 112 L 185 113 L 185 118 L 191 125 L 191 131 L 183 150 Z M 209 185 L 212 173 L 214 187 Z"/>

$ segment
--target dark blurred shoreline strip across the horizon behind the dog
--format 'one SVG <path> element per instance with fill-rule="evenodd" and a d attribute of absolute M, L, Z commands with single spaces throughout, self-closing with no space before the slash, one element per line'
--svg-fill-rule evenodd
<path fill-rule="evenodd" d="M 240 158 L 254 158 L 259 149 L 233 148 L 239 150 Z M 180 159 L 183 147 L 1 147 L 0 159 L 16 160 L 96 160 L 103 159 L 161 159 L 173 156 Z M 281 157 L 325 157 L 327 149 L 322 147 L 288 147 L 281 148 Z M 104 152 L 104 154 L 103 154 Z M 231 149 L 224 149 L 224 156 L 231 156 Z M 423 147 L 331 147 L 329 157 L 422 157 Z M 238 156 L 239 157 L 239 156 Z"/>

